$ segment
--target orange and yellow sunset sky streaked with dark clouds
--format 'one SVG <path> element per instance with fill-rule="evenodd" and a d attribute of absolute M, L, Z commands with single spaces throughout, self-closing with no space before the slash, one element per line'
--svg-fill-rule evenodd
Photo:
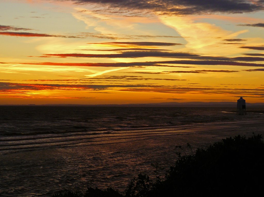
<path fill-rule="evenodd" d="M 264 102 L 263 0 L 0 0 L 0 104 Z"/>

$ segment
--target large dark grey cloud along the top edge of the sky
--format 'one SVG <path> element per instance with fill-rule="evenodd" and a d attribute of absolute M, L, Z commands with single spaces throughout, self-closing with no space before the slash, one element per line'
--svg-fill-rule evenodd
<path fill-rule="evenodd" d="M 208 13 L 246 13 L 263 10 L 263 1 L 250 0 L 73 0 L 76 3 L 100 4 L 123 10 L 151 10 L 166 15 L 193 15 Z M 124 12 L 122 10 L 122 12 Z M 121 12 L 121 11 L 120 11 Z"/>

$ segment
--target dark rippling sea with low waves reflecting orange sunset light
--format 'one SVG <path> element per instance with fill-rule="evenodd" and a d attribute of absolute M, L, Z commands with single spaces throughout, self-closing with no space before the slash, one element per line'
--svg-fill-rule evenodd
<path fill-rule="evenodd" d="M 225 137 L 264 134 L 264 114 L 234 110 L 0 106 L 0 196 L 51 196 L 87 187 L 124 193 L 139 173 L 154 180 L 157 169 L 164 177 L 177 160 L 175 146 L 194 154 Z"/>

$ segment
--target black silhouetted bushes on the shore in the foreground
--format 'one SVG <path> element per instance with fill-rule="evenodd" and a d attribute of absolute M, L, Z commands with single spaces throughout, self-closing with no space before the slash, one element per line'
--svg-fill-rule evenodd
<path fill-rule="evenodd" d="M 189 145 L 188 145 L 189 146 Z M 182 149 L 181 146 L 177 148 Z M 160 196 L 263 196 L 264 143 L 261 135 L 236 136 L 216 142 L 192 155 L 177 152 L 179 159 L 164 179 L 139 174 L 125 194 L 88 188 L 65 190 L 53 197 L 160 197 Z M 156 169 L 157 172 L 157 169 Z"/>

